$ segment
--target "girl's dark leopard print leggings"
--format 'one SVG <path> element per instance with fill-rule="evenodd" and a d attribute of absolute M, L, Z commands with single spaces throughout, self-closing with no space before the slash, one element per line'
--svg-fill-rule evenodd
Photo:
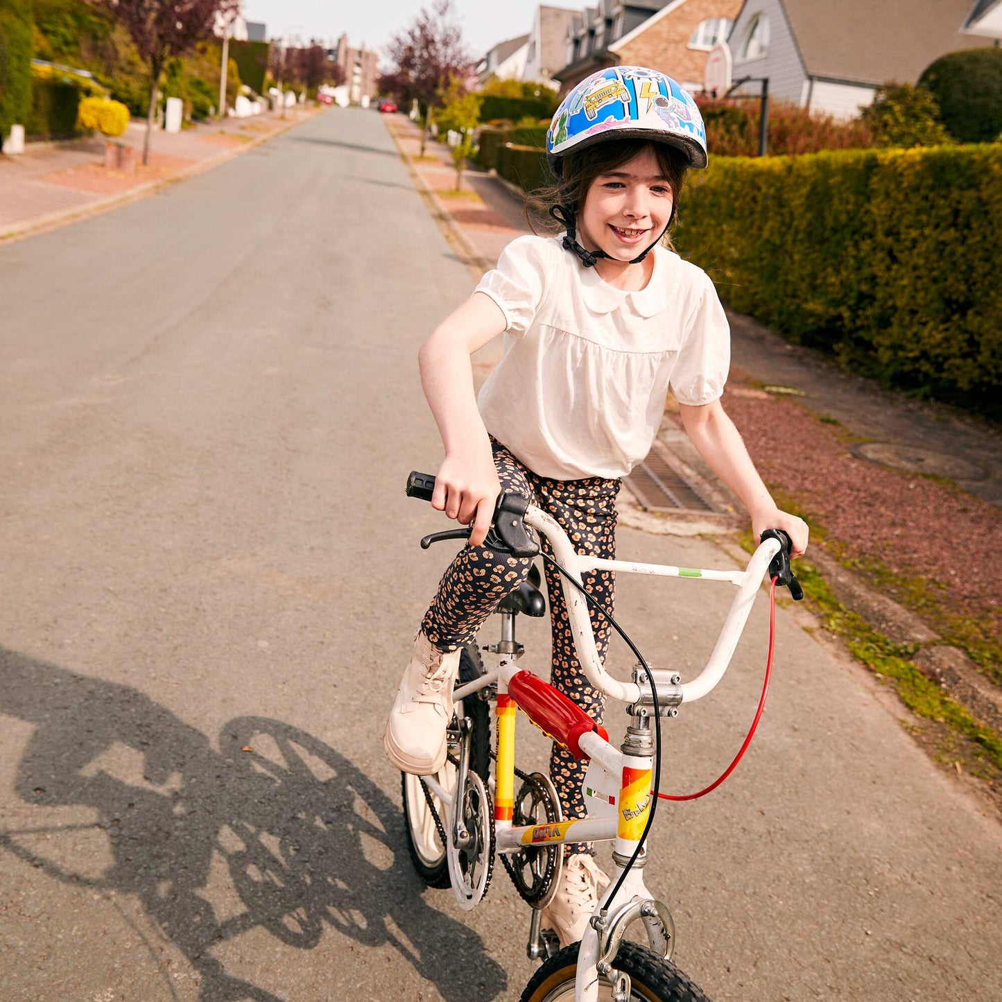
<path fill-rule="evenodd" d="M 492 446 L 494 464 L 504 493 L 521 494 L 552 515 L 578 553 L 615 558 L 618 480 L 601 477 L 549 480 L 534 474 L 500 443 L 492 440 Z M 552 555 L 549 542 L 545 539 L 543 550 Z M 465 546 L 446 569 L 438 592 L 425 613 L 422 632 L 440 650 L 456 650 L 465 646 L 476 637 L 498 602 L 525 580 L 531 565 L 531 559 L 497 553 L 486 546 Z M 549 564 L 545 565 L 544 572 L 553 637 L 550 681 L 596 723 L 601 723 L 604 698 L 589 684 L 577 659 L 559 574 Z M 582 577 L 587 591 L 610 612 L 614 594 L 613 577 L 611 571 L 592 571 Z M 604 662 L 610 627 L 601 613 L 591 609 L 590 614 L 595 645 Z M 587 813 L 581 794 L 585 770 L 584 763 L 577 762 L 565 747 L 553 742 L 550 778 L 565 818 L 583 818 Z M 592 848 L 580 843 L 568 845 L 566 852 L 568 855 L 592 852 Z"/>

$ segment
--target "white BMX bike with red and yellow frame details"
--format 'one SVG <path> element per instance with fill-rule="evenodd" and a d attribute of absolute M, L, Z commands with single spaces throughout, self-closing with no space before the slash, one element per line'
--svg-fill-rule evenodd
<path fill-rule="evenodd" d="M 431 500 L 434 485 L 434 477 L 412 473 L 407 493 Z M 803 596 L 790 570 L 790 539 L 779 530 L 763 533 L 744 570 L 604 560 L 576 553 L 553 518 L 525 498 L 506 494 L 498 500 L 484 545 L 515 556 L 535 557 L 540 547 L 528 530 L 547 539 L 552 556 L 543 553 L 543 559 L 552 561 L 572 585 L 564 588 L 564 593 L 578 657 L 592 685 L 626 704 L 624 739 L 618 746 L 610 743 L 604 727 L 574 702 L 517 666 L 524 652 L 515 637 L 517 617 L 545 612 L 539 573 L 533 567 L 529 579 L 498 606 L 500 639 L 483 648 L 492 655 L 489 666 L 484 666 L 475 644 L 462 652 L 446 765 L 436 776 L 403 775 L 412 862 L 429 886 L 451 886 L 460 907 L 470 910 L 483 901 L 495 856 L 500 857 L 519 895 L 532 908 L 528 956 L 543 961 L 521 1002 L 708 1002 L 702 990 L 671 963 L 675 941 L 671 912 L 651 895 L 643 881 L 646 840 L 659 797 L 690 800 L 702 796 L 723 782 L 743 755 L 765 704 L 775 617 L 771 616 L 769 664 L 755 721 L 728 769 L 705 790 L 684 797 L 660 794 L 660 719 L 676 716 L 680 705 L 704 696 L 720 680 L 767 571 L 774 610 L 777 584 L 789 586 L 795 598 Z M 427 548 L 439 540 L 465 538 L 469 532 L 469 528 L 460 528 L 433 533 L 422 539 L 421 545 Z M 608 674 L 595 648 L 588 614 L 587 603 L 593 600 L 581 585 L 581 575 L 592 570 L 735 585 L 737 594 L 703 670 L 683 682 L 674 671 L 650 669 L 609 616 L 638 664 L 631 681 L 619 681 Z M 491 704 L 497 722 L 493 749 Z M 576 758 L 588 761 L 582 791 L 587 817 L 565 820 L 549 778 L 515 768 L 516 707 Z M 520 784 L 517 791 L 516 779 Z M 556 936 L 541 929 L 540 911 L 556 890 L 562 846 L 601 841 L 613 843 L 614 876 L 580 943 L 560 950 Z M 646 947 L 624 939 L 635 923 L 642 926 Z"/>

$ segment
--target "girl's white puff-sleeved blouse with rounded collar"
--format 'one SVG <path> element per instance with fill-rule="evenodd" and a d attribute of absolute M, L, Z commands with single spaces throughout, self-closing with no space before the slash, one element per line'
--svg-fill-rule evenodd
<path fill-rule="evenodd" d="M 669 389 L 693 405 L 723 393 L 727 319 L 709 277 L 664 247 L 646 287 L 624 292 L 561 238 L 519 236 L 477 286 L 507 322 L 480 413 L 539 476 L 621 477 L 650 451 Z"/>

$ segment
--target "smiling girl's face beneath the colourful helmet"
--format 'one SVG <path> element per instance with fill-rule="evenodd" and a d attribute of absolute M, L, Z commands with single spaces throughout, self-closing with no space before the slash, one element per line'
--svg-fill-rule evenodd
<path fill-rule="evenodd" d="M 648 147 L 592 181 L 578 219 L 582 242 L 629 262 L 660 236 L 672 200 L 668 179 Z"/>

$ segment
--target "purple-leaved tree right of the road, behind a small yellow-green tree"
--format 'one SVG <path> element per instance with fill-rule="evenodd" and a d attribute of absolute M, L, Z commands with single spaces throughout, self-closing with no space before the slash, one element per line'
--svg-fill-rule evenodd
<path fill-rule="evenodd" d="M 435 0 L 431 8 L 422 7 L 410 27 L 393 36 L 387 52 L 393 68 L 380 78 L 380 86 L 404 103 L 417 99 L 423 118 L 421 155 L 424 156 L 429 112 L 441 106 L 441 94 L 450 80 L 468 76 L 473 65 L 455 19 L 452 0 Z"/>

